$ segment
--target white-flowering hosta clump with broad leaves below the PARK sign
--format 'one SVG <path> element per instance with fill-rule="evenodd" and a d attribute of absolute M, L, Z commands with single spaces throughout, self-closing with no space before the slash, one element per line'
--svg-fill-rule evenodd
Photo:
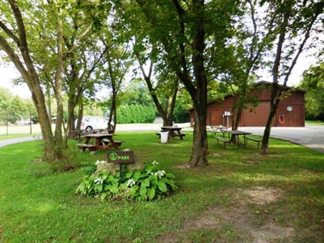
<path fill-rule="evenodd" d="M 104 164 L 105 161 L 97 161 Z M 160 199 L 178 190 L 175 176 L 159 170 L 154 160 L 144 169 L 134 172 L 123 170 L 122 176 L 114 176 L 108 170 L 85 177 L 76 189 L 77 194 L 94 196 L 100 199 L 134 199 L 137 201 Z"/>

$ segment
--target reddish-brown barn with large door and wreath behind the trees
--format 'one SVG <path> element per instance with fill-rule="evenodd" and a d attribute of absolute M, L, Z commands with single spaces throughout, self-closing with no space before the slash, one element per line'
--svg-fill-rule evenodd
<path fill-rule="evenodd" d="M 253 108 L 242 111 L 239 127 L 265 126 L 270 111 L 271 86 L 269 82 L 258 82 L 250 91 L 250 96 L 257 96 L 259 104 Z M 305 126 L 305 91 L 292 90 L 286 87 L 287 96 L 282 99 L 274 117 L 272 126 L 276 127 L 304 127 Z M 207 125 L 228 125 L 231 127 L 231 117 L 227 119 L 226 114 L 232 111 L 234 96 L 227 95 L 224 100 L 214 100 L 207 105 Z M 190 112 L 190 123 L 193 126 L 194 110 Z"/>

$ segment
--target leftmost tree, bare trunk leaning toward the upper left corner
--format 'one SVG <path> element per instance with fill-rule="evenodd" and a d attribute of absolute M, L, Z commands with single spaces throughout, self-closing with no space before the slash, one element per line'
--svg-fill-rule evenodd
<path fill-rule="evenodd" d="M 0 49 L 14 63 L 31 92 L 39 124 L 41 125 L 45 158 L 57 160 L 62 156 L 62 151 L 58 149 L 60 145 L 57 146 L 52 133 L 43 89 L 29 50 L 25 21 L 17 2 L 15 0 L 8 0 L 8 3 L 9 6 L 8 4 L 2 4 L 0 7 L 3 17 L 7 17 L 0 21 L 0 28 L 2 30 L 0 32 Z"/>

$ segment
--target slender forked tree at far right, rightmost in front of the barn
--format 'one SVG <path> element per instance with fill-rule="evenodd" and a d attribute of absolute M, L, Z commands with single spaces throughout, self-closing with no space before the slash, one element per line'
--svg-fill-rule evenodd
<path fill-rule="evenodd" d="M 269 61 L 272 74 L 270 112 L 262 140 L 262 154 L 267 154 L 273 119 L 291 72 L 307 40 L 318 32 L 318 24 L 322 30 L 324 1 L 270 0 L 262 1 L 262 4 L 267 7 L 266 18 L 274 19 L 273 33 L 276 36 Z"/>

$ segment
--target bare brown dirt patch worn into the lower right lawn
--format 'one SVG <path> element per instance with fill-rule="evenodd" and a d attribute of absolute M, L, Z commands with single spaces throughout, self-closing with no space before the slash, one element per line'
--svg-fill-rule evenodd
<path fill-rule="evenodd" d="M 207 207 L 204 215 L 189 219 L 183 223 L 183 231 L 199 229 L 216 230 L 224 235 L 224 226 L 230 225 L 239 232 L 237 240 L 264 243 L 288 240 L 296 236 L 292 227 L 282 227 L 277 224 L 271 215 L 263 224 L 257 227 L 254 224 L 253 208 L 248 203 L 264 205 L 276 201 L 283 191 L 278 188 L 256 187 L 250 190 L 240 189 L 232 195 L 233 204 L 228 207 Z M 224 236 L 225 237 L 225 236 Z M 173 241 L 165 241 L 173 242 Z M 221 242 L 221 241 L 220 241 Z"/>

